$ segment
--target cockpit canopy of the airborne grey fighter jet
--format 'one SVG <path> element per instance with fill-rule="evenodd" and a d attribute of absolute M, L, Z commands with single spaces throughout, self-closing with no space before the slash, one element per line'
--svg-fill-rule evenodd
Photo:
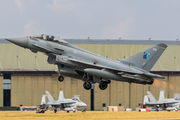
<path fill-rule="evenodd" d="M 43 40 L 47 40 L 47 41 L 67 43 L 66 41 L 62 40 L 61 38 L 53 36 L 53 35 L 49 35 L 49 34 L 36 35 L 36 36 L 34 36 L 34 38 L 43 39 Z"/>

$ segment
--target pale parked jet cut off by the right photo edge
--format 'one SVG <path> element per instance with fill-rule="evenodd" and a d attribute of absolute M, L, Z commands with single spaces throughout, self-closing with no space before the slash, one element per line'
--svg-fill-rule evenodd
<path fill-rule="evenodd" d="M 175 99 L 165 99 L 164 98 L 164 91 L 160 91 L 159 100 L 157 101 L 154 96 L 151 94 L 150 91 L 147 91 L 148 95 L 144 96 L 144 105 L 146 106 L 153 106 L 156 108 L 156 111 L 162 110 L 178 110 L 180 101 Z M 150 102 L 148 100 L 150 99 Z M 169 106 L 169 107 L 168 107 Z"/>

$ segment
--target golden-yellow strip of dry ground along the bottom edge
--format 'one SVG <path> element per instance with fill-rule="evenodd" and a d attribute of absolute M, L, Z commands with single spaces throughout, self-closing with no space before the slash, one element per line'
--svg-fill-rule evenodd
<path fill-rule="evenodd" d="M 180 111 L 168 112 L 107 112 L 107 111 L 78 111 L 76 113 L 60 111 L 0 111 L 0 120 L 156 120 L 156 119 L 180 119 Z"/>

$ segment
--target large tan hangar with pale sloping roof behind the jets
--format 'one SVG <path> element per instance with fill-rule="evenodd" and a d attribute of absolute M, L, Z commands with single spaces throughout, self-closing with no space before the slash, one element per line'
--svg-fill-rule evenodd
<path fill-rule="evenodd" d="M 106 90 L 100 90 L 94 84 L 91 90 L 83 88 L 83 81 L 65 77 L 58 81 L 54 72 L 57 66 L 47 63 L 47 56 L 32 53 L 8 41 L 0 41 L 0 106 L 35 106 L 41 102 L 42 94 L 49 91 L 57 99 L 59 91 L 65 98 L 81 95 L 80 99 L 88 106 L 87 110 L 102 110 L 103 106 L 124 106 L 136 108 L 143 101 L 147 91 L 159 97 L 159 91 L 165 90 L 166 98 L 180 93 L 180 41 L 173 40 L 111 40 L 111 39 L 65 39 L 67 42 L 90 52 L 108 57 L 130 57 L 158 43 L 168 48 L 157 61 L 151 72 L 165 76 L 164 80 L 155 80 L 153 85 L 141 85 L 111 81 Z"/>

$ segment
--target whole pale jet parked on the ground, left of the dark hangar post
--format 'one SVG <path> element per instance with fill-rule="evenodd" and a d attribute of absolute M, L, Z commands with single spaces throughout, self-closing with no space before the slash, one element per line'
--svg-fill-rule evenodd
<path fill-rule="evenodd" d="M 75 95 L 74 98 L 71 98 L 71 99 L 65 99 L 63 91 L 60 91 L 59 98 L 57 101 L 55 101 L 48 91 L 46 91 L 46 94 L 47 94 L 49 102 L 45 103 L 45 96 L 42 96 L 41 105 L 44 105 L 46 107 L 49 107 L 49 106 L 55 107 L 54 113 L 57 112 L 58 108 L 60 110 L 64 110 L 67 112 L 69 112 L 69 111 L 76 112 L 76 109 L 75 109 L 76 107 L 87 106 L 84 102 L 80 101 L 80 99 L 79 99 L 80 95 Z"/>

